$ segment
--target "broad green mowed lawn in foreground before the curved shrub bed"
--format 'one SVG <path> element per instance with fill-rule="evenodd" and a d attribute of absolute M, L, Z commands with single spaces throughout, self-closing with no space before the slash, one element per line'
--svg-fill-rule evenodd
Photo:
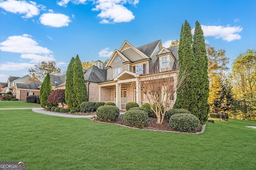
<path fill-rule="evenodd" d="M 255 170 L 254 121 L 207 123 L 202 135 L 127 129 L 31 110 L 0 111 L 0 161 L 27 170 Z"/>

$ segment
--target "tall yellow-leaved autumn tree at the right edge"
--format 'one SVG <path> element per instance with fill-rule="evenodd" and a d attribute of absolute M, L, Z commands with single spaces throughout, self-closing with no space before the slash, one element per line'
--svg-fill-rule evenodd
<path fill-rule="evenodd" d="M 235 114 L 256 120 L 256 50 L 241 53 L 232 66 Z M 238 114 L 239 115 L 239 114 Z"/>

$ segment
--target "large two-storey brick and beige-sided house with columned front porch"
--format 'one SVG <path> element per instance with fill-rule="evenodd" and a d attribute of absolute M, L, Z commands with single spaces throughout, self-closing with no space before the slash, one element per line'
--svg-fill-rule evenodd
<path fill-rule="evenodd" d="M 90 102 L 114 102 L 119 109 L 124 109 L 129 102 L 141 104 L 148 99 L 142 93 L 138 77 L 147 74 L 159 64 L 158 72 L 173 71 L 177 76 L 178 46 L 162 47 L 161 40 L 134 47 L 124 41 L 119 50 L 115 50 L 108 63 L 96 61 L 94 66 L 84 70 L 84 79 Z M 56 88 L 65 88 L 65 82 Z M 164 96 L 162 96 L 164 98 Z M 171 108 L 176 100 L 176 94 Z"/>

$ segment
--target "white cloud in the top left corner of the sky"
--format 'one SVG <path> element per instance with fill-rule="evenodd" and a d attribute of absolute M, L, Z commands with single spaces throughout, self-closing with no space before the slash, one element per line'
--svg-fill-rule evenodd
<path fill-rule="evenodd" d="M 33 16 L 39 15 L 40 10 L 44 10 L 45 6 L 37 5 L 33 1 L 17 1 L 17 0 L 7 0 L 0 3 L 0 7 L 8 12 L 14 14 L 25 14 L 22 18 L 32 18 Z"/>

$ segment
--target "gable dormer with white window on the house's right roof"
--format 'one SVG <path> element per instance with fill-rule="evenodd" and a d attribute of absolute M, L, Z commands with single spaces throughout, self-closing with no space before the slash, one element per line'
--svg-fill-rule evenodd
<path fill-rule="evenodd" d="M 165 47 L 162 47 L 157 57 L 159 60 L 160 72 L 172 70 L 173 64 L 176 61 L 176 59 L 173 57 L 170 50 L 166 49 Z"/>

